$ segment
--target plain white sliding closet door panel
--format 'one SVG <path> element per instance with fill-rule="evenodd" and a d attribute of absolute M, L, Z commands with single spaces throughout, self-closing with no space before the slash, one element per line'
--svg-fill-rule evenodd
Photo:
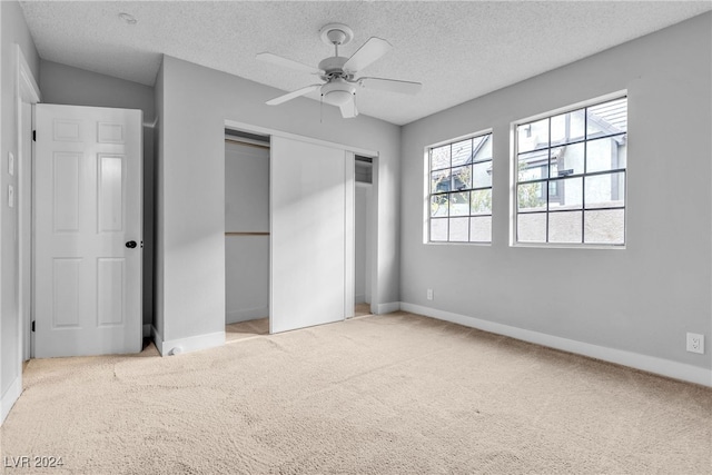
<path fill-rule="evenodd" d="M 273 137 L 270 333 L 346 317 L 353 192 L 352 154 Z"/>

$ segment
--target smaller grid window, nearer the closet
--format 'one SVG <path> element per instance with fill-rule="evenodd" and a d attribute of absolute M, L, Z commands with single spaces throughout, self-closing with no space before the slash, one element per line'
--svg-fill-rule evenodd
<path fill-rule="evenodd" d="M 428 149 L 431 243 L 492 241 L 492 133 Z"/>

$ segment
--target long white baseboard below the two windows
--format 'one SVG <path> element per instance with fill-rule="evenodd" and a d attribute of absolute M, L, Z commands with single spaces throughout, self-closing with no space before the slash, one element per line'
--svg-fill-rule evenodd
<path fill-rule="evenodd" d="M 487 321 L 479 318 L 467 317 L 465 315 L 453 314 L 451 311 L 423 307 L 421 305 L 400 303 L 400 309 L 414 314 L 439 320 L 452 321 L 471 328 L 504 335 L 524 342 L 534 343 L 550 348 L 575 353 L 591 358 L 601 359 L 631 368 L 642 369 L 661 376 L 681 379 L 712 387 L 712 370 L 699 366 L 686 365 L 684 363 L 671 362 L 670 359 L 657 358 L 655 356 L 641 355 L 622 349 L 606 348 L 604 346 L 591 345 L 589 343 L 576 342 L 553 335 L 532 331 L 508 325 Z"/>

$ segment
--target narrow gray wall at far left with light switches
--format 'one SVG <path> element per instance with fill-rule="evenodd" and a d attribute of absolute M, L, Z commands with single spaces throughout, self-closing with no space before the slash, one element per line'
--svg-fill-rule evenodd
<path fill-rule="evenodd" d="M 8 187 L 18 189 L 18 127 L 17 127 L 17 56 L 16 43 L 32 70 L 39 78 L 39 57 L 27 29 L 20 6 L 14 1 L 0 2 L 0 396 L 19 376 L 19 308 L 18 308 L 18 207 L 8 207 Z M 8 172 L 8 154 L 16 157 L 16 172 Z M 16 194 L 17 196 L 17 194 Z"/>

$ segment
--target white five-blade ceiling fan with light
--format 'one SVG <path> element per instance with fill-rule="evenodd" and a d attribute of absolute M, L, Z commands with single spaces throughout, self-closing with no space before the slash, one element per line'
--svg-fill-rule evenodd
<path fill-rule="evenodd" d="M 319 34 L 325 43 L 334 46 L 335 53 L 333 57 L 322 60 L 318 68 L 270 52 L 257 55 L 257 59 L 260 61 L 317 75 L 325 81 L 324 83 L 307 86 L 284 96 L 276 97 L 268 100 L 267 105 L 277 106 L 320 89 L 322 100 L 338 107 L 342 111 L 342 117 L 346 119 L 358 115 L 355 102 L 355 95 L 358 88 L 378 89 L 407 95 L 415 95 L 421 90 L 423 85 L 419 82 L 368 77 L 356 78 L 358 71 L 390 50 L 392 46 L 388 41 L 372 37 L 350 58 L 344 58 L 338 56 L 338 48 L 347 44 L 354 38 L 354 32 L 350 28 L 342 23 L 329 23 L 322 28 Z"/>

